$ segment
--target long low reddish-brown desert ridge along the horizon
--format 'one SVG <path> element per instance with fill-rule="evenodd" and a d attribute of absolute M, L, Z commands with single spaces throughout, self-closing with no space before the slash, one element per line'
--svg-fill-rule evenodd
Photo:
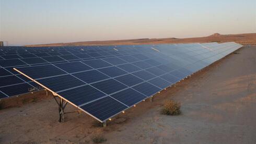
<path fill-rule="evenodd" d="M 234 41 L 243 45 L 256 45 L 256 33 L 246 34 L 219 34 L 214 33 L 208 37 L 199 38 L 162 38 L 162 39 L 130 39 L 111 41 L 85 41 L 71 43 L 50 43 L 26 46 L 80 46 L 80 45 L 136 45 L 136 44 L 168 44 L 168 43 L 204 43 L 204 42 L 230 42 Z"/>

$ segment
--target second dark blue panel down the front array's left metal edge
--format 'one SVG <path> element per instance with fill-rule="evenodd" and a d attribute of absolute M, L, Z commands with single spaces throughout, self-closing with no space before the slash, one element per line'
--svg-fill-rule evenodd
<path fill-rule="evenodd" d="M 64 75 L 64 76 L 57 76 L 45 79 L 37 80 L 43 86 L 51 89 L 52 91 L 61 91 L 69 88 L 74 88 L 77 86 L 85 85 L 83 81 L 71 76 L 71 75 Z"/>

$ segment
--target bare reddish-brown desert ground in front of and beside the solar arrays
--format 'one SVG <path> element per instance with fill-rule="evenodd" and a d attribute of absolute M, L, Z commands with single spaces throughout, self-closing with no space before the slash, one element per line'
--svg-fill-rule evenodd
<path fill-rule="evenodd" d="M 181 102 L 182 114 L 159 114 L 166 99 Z M 138 104 L 106 128 L 84 113 L 67 114 L 64 123 L 58 118 L 52 98 L 0 110 L 0 143 L 93 143 L 96 135 L 105 143 L 256 143 L 256 46 Z"/>

